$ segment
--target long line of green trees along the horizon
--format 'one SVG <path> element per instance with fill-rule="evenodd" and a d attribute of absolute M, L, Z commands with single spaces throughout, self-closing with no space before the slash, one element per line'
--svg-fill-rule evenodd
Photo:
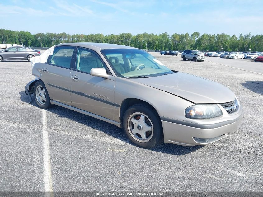
<path fill-rule="evenodd" d="M 169 35 L 162 34 L 137 34 L 121 33 L 110 34 L 66 34 L 66 33 L 37 33 L 28 31 L 12 31 L 0 29 L 0 43 L 21 44 L 31 47 L 51 47 L 60 43 L 68 42 L 101 42 L 119 45 L 133 46 L 139 49 L 154 50 L 184 50 L 198 49 L 210 51 L 263 51 L 263 35 L 203 34 L 194 32 Z"/>

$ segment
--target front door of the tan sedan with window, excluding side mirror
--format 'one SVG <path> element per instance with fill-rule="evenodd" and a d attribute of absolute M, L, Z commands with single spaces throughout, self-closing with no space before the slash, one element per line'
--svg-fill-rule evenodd
<path fill-rule="evenodd" d="M 95 52 L 78 48 L 76 54 L 75 68 L 70 74 L 72 106 L 113 120 L 115 81 L 90 75 L 92 68 L 107 70 Z"/>

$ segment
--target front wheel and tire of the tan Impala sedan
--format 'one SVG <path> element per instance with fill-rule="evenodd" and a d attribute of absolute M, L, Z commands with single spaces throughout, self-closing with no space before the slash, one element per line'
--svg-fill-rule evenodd
<path fill-rule="evenodd" d="M 163 141 L 160 117 L 151 106 L 144 104 L 130 106 L 124 114 L 122 124 L 125 134 L 136 146 L 153 148 Z"/>

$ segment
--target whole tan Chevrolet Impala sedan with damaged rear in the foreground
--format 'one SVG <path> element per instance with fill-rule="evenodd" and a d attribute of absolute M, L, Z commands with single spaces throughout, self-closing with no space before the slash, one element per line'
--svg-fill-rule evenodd
<path fill-rule="evenodd" d="M 58 105 L 123 127 L 143 148 L 162 141 L 207 145 L 229 136 L 242 120 L 242 106 L 228 87 L 170 70 L 134 47 L 64 43 L 46 59 L 34 62 L 38 79 L 25 87 L 37 106 Z"/>

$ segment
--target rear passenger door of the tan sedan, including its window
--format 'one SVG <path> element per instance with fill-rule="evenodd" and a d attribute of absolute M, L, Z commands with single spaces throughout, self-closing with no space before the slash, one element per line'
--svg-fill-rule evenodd
<path fill-rule="evenodd" d="M 54 48 L 41 72 L 52 100 L 71 106 L 70 73 L 73 65 L 73 55 L 76 47 L 58 46 Z"/>

